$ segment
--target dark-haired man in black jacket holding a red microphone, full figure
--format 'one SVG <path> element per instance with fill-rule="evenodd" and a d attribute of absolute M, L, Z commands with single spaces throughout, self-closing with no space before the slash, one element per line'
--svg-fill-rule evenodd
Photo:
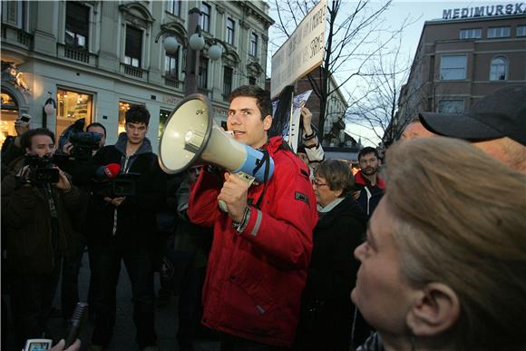
<path fill-rule="evenodd" d="M 156 208 L 163 201 L 164 173 L 146 138 L 150 112 L 132 106 L 126 113 L 126 132 L 115 145 L 105 146 L 93 161 L 99 176 L 119 175 L 93 191 L 88 211 L 88 247 L 93 274 L 95 328 L 90 350 L 103 350 L 112 341 L 115 324 L 115 289 L 121 259 L 132 283 L 133 319 L 141 349 L 157 350 L 154 327 L 153 245 Z M 112 164 L 113 167 L 106 167 Z M 117 167 L 119 166 L 119 167 Z M 116 193 L 112 181 L 124 185 Z M 122 190 L 122 189 L 121 189 Z"/>

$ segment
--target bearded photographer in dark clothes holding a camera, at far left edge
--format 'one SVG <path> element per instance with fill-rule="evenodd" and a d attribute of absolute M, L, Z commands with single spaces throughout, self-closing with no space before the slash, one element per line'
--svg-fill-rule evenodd
<path fill-rule="evenodd" d="M 17 342 L 42 337 L 54 298 L 62 258 L 76 256 L 68 210 L 79 190 L 51 161 L 54 133 L 34 129 L 21 141 L 26 154 L 2 180 L 2 221 L 11 308 Z"/>

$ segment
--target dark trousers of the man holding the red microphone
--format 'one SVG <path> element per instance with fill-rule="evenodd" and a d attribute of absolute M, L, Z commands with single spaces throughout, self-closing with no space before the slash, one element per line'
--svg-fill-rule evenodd
<path fill-rule="evenodd" d="M 107 347 L 112 341 L 116 318 L 116 288 L 122 259 L 132 283 L 133 321 L 137 328 L 137 343 L 141 348 L 155 345 L 155 294 L 150 248 L 117 249 L 114 244 L 110 244 L 91 246 L 89 252 L 95 305 L 92 343 Z"/>

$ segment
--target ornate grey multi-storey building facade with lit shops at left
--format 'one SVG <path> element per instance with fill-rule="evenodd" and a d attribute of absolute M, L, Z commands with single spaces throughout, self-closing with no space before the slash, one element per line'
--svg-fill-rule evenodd
<path fill-rule="evenodd" d="M 273 24 L 265 2 L 3 1 L 2 141 L 14 134 L 16 115 L 27 112 L 32 128 L 44 126 L 57 136 L 81 118 L 101 122 L 111 144 L 124 130 L 125 112 L 143 104 L 151 112 L 148 137 L 156 150 L 164 122 L 184 96 L 194 7 L 207 39 L 199 92 L 208 95 L 221 123 L 232 90 L 265 84 Z M 208 49 L 216 39 L 223 53 L 212 61 Z M 171 46 L 164 43 L 170 40 Z M 55 109 L 44 110 L 46 102 Z"/>

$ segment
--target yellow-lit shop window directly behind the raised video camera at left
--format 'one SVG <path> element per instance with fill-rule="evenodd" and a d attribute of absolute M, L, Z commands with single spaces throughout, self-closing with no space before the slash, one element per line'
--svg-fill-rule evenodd
<path fill-rule="evenodd" d="M 58 89 L 57 101 L 55 129 L 57 139 L 67 127 L 81 118 L 84 119 L 85 125 L 92 122 L 93 95 Z"/>

